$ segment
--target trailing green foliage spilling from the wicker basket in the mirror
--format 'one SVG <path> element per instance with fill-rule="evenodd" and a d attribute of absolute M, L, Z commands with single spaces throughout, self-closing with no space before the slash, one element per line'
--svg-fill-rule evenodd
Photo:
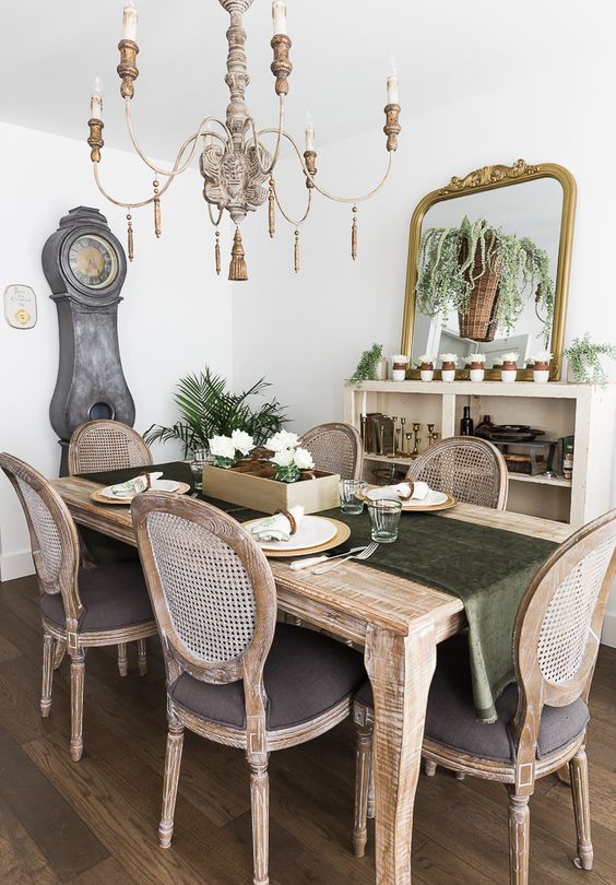
<path fill-rule="evenodd" d="M 547 252 L 528 237 L 504 233 L 486 219 L 471 222 L 465 215 L 460 227 L 428 227 L 423 232 L 417 256 L 419 310 L 428 317 L 447 316 L 450 310 L 464 314 L 473 286 L 486 269 L 498 273 L 497 326 L 509 334 L 524 309 L 525 297 L 536 294 L 537 306 L 545 311 L 547 344 L 554 317 Z"/>

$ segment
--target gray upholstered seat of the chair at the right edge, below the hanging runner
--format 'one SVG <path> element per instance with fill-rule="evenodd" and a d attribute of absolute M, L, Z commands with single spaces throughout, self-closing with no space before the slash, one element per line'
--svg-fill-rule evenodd
<path fill-rule="evenodd" d="M 372 705 L 369 682 L 357 693 L 357 700 Z M 465 634 L 458 634 L 438 647 L 425 736 L 471 756 L 513 763 L 513 746 L 508 725 L 517 704 L 518 686 L 510 685 L 496 703 L 498 721 L 491 725 L 482 725 L 476 721 L 467 637 Z M 581 698 L 568 707 L 544 707 L 537 757 L 541 759 L 549 756 L 569 744 L 583 731 L 588 721 L 589 710 Z"/>

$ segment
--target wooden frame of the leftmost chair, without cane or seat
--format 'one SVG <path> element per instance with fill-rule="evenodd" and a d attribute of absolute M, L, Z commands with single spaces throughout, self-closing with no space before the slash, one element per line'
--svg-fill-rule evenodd
<path fill-rule="evenodd" d="M 79 535 L 69 509 L 60 495 L 34 468 L 5 452 L 0 453 L 0 468 L 9 477 L 23 507 L 36 569 L 39 597 L 44 593 L 60 593 L 64 607 L 66 624 L 59 627 L 43 615 L 43 689 L 40 715 L 51 712 L 54 670 L 60 665 L 68 651 L 71 659 L 71 740 L 70 753 L 79 762 L 83 753 L 83 688 L 85 677 L 85 652 L 87 648 L 116 646 L 137 640 L 139 644 L 139 670 L 147 672 L 145 642 L 157 634 L 154 621 L 114 630 L 80 630 L 79 620 L 84 612 L 79 591 L 80 545 Z M 36 492 L 47 506 L 60 535 L 61 557 L 56 578 L 46 580 L 40 546 L 26 502 L 17 483 L 20 479 Z"/>

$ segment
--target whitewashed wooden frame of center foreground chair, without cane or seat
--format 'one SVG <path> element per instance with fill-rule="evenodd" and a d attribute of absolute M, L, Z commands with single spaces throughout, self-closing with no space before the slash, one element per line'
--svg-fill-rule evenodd
<path fill-rule="evenodd" d="M 177 516 L 205 528 L 224 541 L 239 557 L 252 583 L 256 603 L 254 633 L 239 657 L 206 663 L 190 651 L 178 636 L 165 599 L 156 567 L 154 547 L 147 531 L 147 518 L 153 512 Z M 253 883 L 269 883 L 269 775 L 268 760 L 272 751 L 284 750 L 318 738 L 350 715 L 352 699 L 315 719 L 293 728 L 269 731 L 266 727 L 266 694 L 263 668 L 274 637 L 276 623 L 276 588 L 269 563 L 254 540 L 232 517 L 204 502 L 181 495 L 146 492 L 131 504 L 143 570 L 152 607 L 158 624 L 167 673 L 168 735 L 165 756 L 163 811 L 158 827 L 162 848 L 169 848 L 174 831 L 185 728 L 215 743 L 244 750 L 250 768 L 252 805 Z M 244 683 L 246 728 L 214 723 L 193 713 L 170 696 L 170 688 L 182 674 L 189 673 L 203 682 L 222 685 L 239 680 Z"/>

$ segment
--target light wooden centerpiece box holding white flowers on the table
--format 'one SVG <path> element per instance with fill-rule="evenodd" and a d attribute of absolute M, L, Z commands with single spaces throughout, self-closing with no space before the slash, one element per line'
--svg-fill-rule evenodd
<path fill-rule="evenodd" d="M 247 458 L 228 469 L 205 464 L 203 494 L 265 514 L 299 506 L 306 514 L 316 514 L 340 504 L 337 473 L 304 470 L 295 483 L 277 482 L 274 473 L 273 464 L 260 458 Z"/>

